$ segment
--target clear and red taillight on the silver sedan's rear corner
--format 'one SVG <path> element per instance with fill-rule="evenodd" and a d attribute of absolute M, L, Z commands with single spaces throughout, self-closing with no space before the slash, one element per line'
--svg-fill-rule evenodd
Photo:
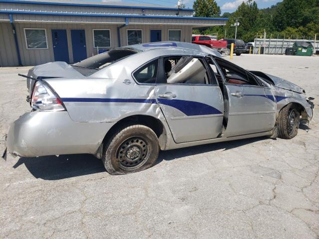
<path fill-rule="evenodd" d="M 65 111 L 62 101 L 40 81 L 34 85 L 31 107 L 40 111 Z"/>

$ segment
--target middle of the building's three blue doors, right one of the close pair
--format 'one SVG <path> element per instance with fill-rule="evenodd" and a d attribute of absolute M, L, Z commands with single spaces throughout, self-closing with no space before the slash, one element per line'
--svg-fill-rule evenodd
<path fill-rule="evenodd" d="M 71 30 L 71 42 L 73 52 L 73 62 L 79 62 L 87 58 L 86 56 L 86 42 L 84 29 Z"/>

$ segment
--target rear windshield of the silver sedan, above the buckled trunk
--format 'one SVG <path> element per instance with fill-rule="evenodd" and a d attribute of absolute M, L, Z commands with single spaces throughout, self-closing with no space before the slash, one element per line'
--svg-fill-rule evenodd
<path fill-rule="evenodd" d="M 114 62 L 122 60 L 130 55 L 136 54 L 137 51 L 129 48 L 117 48 L 104 52 L 83 61 L 73 64 L 75 70 L 84 76 L 89 76 L 102 68 L 111 65 Z"/>

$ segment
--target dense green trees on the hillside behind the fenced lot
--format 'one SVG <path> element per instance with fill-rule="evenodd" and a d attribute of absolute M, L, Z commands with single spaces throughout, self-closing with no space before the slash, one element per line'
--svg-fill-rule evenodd
<path fill-rule="evenodd" d="M 195 5 L 195 2 L 196 5 Z M 208 0 L 196 0 L 194 9 L 197 6 L 208 8 Z M 216 8 L 216 2 L 214 7 Z M 201 8 L 200 8 L 201 9 Z M 201 15 L 205 16 L 205 15 Z M 256 36 L 263 37 L 264 30 L 268 37 L 273 38 L 314 38 L 315 34 L 319 34 L 319 0 L 283 0 L 268 8 L 258 9 L 254 0 L 243 1 L 233 13 L 225 12 L 222 17 L 228 17 L 225 26 L 213 26 L 209 28 L 196 29 L 196 34 L 218 34 L 218 38 L 235 37 L 234 22 L 236 19 L 240 22 L 237 28 L 237 38 L 243 39 L 245 42 L 254 41 Z M 319 37 L 317 37 L 318 39 Z"/>

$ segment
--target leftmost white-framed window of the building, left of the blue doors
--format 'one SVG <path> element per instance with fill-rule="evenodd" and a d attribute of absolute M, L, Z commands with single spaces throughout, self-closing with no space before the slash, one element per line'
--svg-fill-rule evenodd
<path fill-rule="evenodd" d="M 45 29 L 24 28 L 27 49 L 47 49 Z"/>

